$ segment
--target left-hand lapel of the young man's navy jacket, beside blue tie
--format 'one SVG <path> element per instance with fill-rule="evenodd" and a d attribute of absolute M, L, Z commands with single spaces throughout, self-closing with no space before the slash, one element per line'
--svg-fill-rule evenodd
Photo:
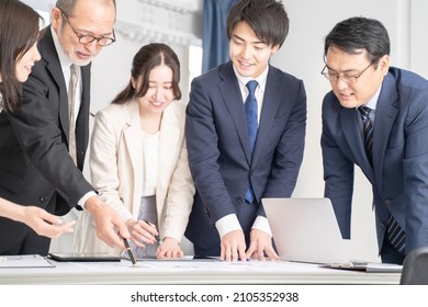
<path fill-rule="evenodd" d="M 249 137 L 244 101 L 239 90 L 238 79 L 236 78 L 232 67 L 232 61 L 222 67 L 219 76 L 223 79 L 223 81 L 218 84 L 223 95 L 223 101 L 235 124 L 235 129 L 238 134 L 240 145 L 244 149 L 247 161 L 250 163 L 251 152 L 249 148 Z"/>

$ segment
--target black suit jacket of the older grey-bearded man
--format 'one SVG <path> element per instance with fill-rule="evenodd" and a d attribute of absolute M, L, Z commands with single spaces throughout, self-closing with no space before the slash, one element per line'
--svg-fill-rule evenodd
<path fill-rule="evenodd" d="M 68 99 L 50 27 L 38 43 L 42 59 L 23 84 L 22 106 L 0 114 L 0 197 L 64 215 L 93 187 L 81 169 L 89 139 L 90 67 L 81 68 L 82 96 L 76 125 L 78 168 L 68 154 Z M 54 204 L 47 207 L 52 197 Z M 0 218 L 0 253 L 30 228 Z"/>

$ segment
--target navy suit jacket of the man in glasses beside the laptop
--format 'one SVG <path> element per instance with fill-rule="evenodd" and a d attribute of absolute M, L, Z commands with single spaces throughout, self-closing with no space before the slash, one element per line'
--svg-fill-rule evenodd
<path fill-rule="evenodd" d="M 390 68 L 379 96 L 373 167 L 367 159 L 361 121 L 333 92 L 323 102 L 322 148 L 325 196 L 343 238 L 350 238 L 353 166 L 373 187 L 379 248 L 392 214 L 406 232 L 406 253 L 428 245 L 428 81 Z"/>

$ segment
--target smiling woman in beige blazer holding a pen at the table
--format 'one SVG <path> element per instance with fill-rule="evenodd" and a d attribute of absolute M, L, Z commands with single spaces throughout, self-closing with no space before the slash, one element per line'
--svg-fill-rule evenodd
<path fill-rule="evenodd" d="M 179 80 L 180 62 L 169 46 L 143 46 L 134 57 L 128 86 L 95 116 L 89 162 L 92 183 L 126 223 L 137 257 L 183 255 L 180 241 L 194 186 Z M 87 212 L 76 227 L 75 251 L 123 252 L 97 237 Z"/>

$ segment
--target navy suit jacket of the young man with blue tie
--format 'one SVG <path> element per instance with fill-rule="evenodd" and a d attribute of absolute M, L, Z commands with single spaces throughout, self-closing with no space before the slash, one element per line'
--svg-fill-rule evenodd
<path fill-rule="evenodd" d="M 214 226 L 218 219 L 236 214 L 246 231 L 244 225 L 264 216 L 261 197 L 291 196 L 303 159 L 305 127 L 303 82 L 270 66 L 251 159 L 244 101 L 232 62 L 193 80 L 185 124 L 196 186 L 185 236 L 193 245 L 219 247 Z M 250 182 L 258 205 L 248 215 L 251 205 L 245 202 L 245 193 Z"/>

